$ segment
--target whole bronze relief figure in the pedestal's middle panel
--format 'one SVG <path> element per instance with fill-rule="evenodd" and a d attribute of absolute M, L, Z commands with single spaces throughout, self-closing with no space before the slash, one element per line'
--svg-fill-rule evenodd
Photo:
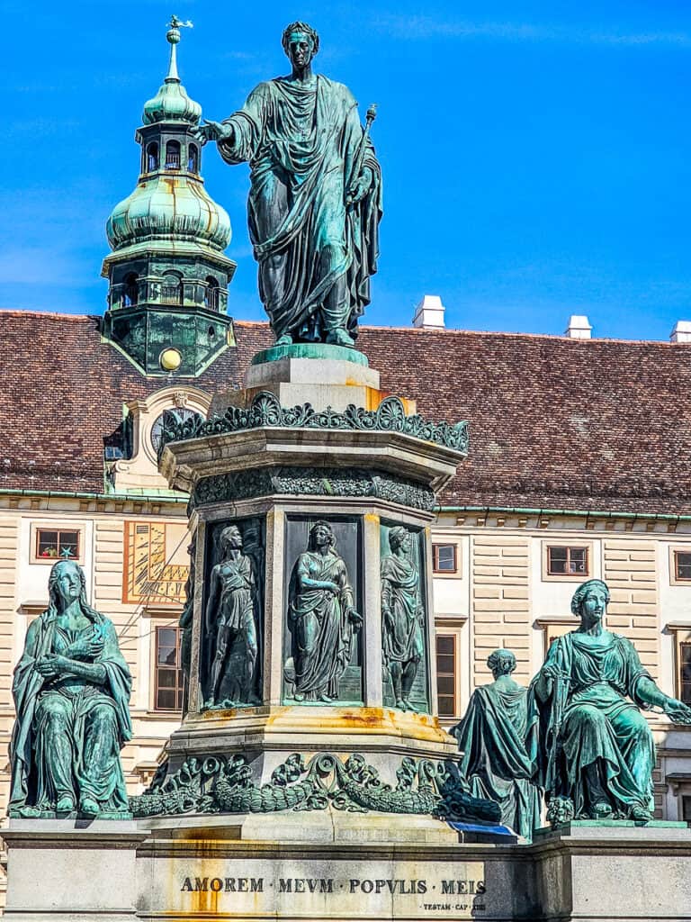
<path fill-rule="evenodd" d="M 339 684 L 361 626 L 362 616 L 355 609 L 334 532 L 328 522 L 317 522 L 310 529 L 307 550 L 299 555 L 290 574 L 287 628 L 291 655 L 283 669 L 284 703 L 346 703 L 341 700 Z"/>

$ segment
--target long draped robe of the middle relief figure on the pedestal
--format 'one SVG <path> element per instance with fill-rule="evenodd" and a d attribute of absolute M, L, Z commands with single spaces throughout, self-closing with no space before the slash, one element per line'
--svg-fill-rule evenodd
<path fill-rule="evenodd" d="M 304 579 L 334 583 L 337 595 L 304 584 Z M 322 694 L 338 698 L 338 683 L 350 662 L 353 625 L 348 613 L 353 591 L 345 562 L 338 554 L 307 550 L 299 555 L 290 577 L 288 624 L 292 633 L 295 691 L 306 701 Z"/>

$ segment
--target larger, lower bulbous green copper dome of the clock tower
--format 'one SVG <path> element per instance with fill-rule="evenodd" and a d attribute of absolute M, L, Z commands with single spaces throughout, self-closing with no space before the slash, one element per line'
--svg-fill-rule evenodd
<path fill-rule="evenodd" d="M 132 243 L 188 240 L 225 250 L 230 219 L 208 195 L 201 180 L 184 174 L 156 173 L 136 187 L 111 212 L 106 225 L 113 250 Z"/>

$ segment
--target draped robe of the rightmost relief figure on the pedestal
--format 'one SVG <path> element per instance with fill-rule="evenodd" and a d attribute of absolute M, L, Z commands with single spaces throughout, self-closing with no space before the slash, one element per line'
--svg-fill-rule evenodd
<path fill-rule="evenodd" d="M 381 561 L 382 652 L 389 663 L 419 661 L 423 654 L 420 575 L 407 557 L 390 554 Z"/>

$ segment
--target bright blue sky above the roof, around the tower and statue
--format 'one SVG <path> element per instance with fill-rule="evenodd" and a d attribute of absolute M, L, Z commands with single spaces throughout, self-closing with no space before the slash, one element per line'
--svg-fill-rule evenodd
<path fill-rule="evenodd" d="M 177 0 L 176 0 L 177 3 Z M 467 329 L 666 339 L 691 319 L 691 5 L 6 0 L 0 307 L 102 313 L 105 221 L 134 188 L 135 128 L 164 77 L 225 118 L 287 72 L 280 34 L 321 34 L 315 69 L 379 103 L 380 271 L 367 322 L 424 293 Z M 233 224 L 230 313 L 262 319 L 248 171 L 204 151 Z"/>

